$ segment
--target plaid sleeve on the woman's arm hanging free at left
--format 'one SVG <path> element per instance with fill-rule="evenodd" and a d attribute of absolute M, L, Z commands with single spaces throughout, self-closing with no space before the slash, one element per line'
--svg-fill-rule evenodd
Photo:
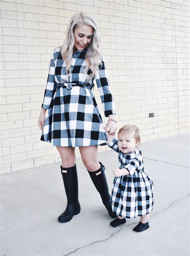
<path fill-rule="evenodd" d="M 55 82 L 55 59 L 57 56 L 57 49 L 54 50 L 51 56 L 51 63 L 49 68 L 49 74 L 47 78 L 46 89 L 44 92 L 44 100 L 42 103 L 42 109 L 49 109 L 51 99 L 55 94 L 57 84 Z"/>

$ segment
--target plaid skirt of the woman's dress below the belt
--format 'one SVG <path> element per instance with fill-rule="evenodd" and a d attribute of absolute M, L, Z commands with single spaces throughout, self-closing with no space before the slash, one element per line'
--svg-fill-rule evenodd
<path fill-rule="evenodd" d="M 40 140 L 61 147 L 107 144 L 103 121 L 88 86 L 58 86 Z"/>

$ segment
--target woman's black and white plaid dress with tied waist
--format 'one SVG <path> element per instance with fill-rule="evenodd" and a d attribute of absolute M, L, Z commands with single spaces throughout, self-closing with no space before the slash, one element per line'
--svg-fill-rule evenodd
<path fill-rule="evenodd" d="M 53 52 L 42 104 L 43 109 L 48 109 L 42 141 L 64 147 L 107 144 L 107 134 L 92 90 L 93 80 L 96 79 L 105 117 L 115 115 L 113 97 L 103 57 L 102 66 L 87 82 L 83 74 L 86 53 L 87 48 L 74 53 L 71 75 L 66 80 L 66 63 L 61 56 L 61 49 L 57 48 Z"/>

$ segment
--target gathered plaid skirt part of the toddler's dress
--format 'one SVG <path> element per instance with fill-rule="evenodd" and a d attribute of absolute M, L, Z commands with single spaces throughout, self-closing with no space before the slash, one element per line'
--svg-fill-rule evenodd
<path fill-rule="evenodd" d="M 146 171 L 114 179 L 112 210 L 124 218 L 135 218 L 153 209 L 153 182 Z"/>

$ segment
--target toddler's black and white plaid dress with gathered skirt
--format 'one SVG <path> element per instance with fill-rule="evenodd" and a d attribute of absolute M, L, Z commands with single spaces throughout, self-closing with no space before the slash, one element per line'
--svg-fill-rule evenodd
<path fill-rule="evenodd" d="M 130 175 L 115 177 L 112 186 L 112 209 L 124 218 L 135 218 L 150 213 L 153 209 L 153 182 L 144 170 L 141 150 L 123 154 L 118 141 L 113 139 L 108 145 L 119 153 L 119 168 L 125 168 Z"/>

